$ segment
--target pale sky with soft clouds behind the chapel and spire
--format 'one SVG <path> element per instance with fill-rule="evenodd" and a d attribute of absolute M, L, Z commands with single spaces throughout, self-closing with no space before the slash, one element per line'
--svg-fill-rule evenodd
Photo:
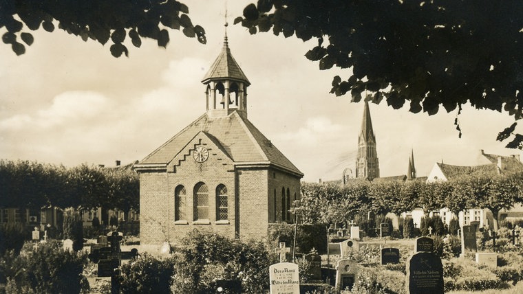
<path fill-rule="evenodd" d="M 76 166 L 114 166 L 141 160 L 205 111 L 201 83 L 224 40 L 224 1 L 182 1 L 207 43 L 171 30 L 167 49 L 126 40 L 129 58 L 62 30 L 32 32 L 34 43 L 16 56 L 0 44 L 0 159 Z M 341 179 L 354 168 L 363 103 L 330 94 L 332 77 L 304 56 L 317 41 L 272 32 L 250 35 L 233 20 L 250 1 L 228 1 L 228 45 L 250 80 L 248 119 L 305 174 L 304 181 Z M 27 29 L 25 29 L 27 30 Z M 0 29 L 3 34 L 5 29 Z M 370 104 L 381 177 L 406 174 L 411 150 L 418 177 L 436 162 L 469 166 L 490 154 L 520 155 L 495 140 L 513 123 L 506 113 L 464 106 L 413 114 Z M 521 123 L 520 123 L 521 124 Z M 523 132 L 522 127 L 516 129 Z"/>

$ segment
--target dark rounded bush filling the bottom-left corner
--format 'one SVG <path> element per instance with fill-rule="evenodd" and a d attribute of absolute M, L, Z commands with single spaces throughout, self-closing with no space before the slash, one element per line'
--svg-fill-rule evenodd
<path fill-rule="evenodd" d="M 8 281 L 3 289 L 6 293 L 69 294 L 89 290 L 89 283 L 82 275 L 87 255 L 64 251 L 56 241 L 38 245 L 26 242 L 19 256 L 11 252 L 1 259 L 0 273 Z M 6 270 L 6 264 L 10 269 Z"/>

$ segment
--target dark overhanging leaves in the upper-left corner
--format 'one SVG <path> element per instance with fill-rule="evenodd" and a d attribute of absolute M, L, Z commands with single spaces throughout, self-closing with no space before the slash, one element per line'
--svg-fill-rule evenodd
<path fill-rule="evenodd" d="M 24 24 L 30 30 L 43 27 L 47 32 L 53 32 L 58 24 L 83 41 L 92 38 L 102 45 L 110 39 L 115 57 L 129 55 L 123 45 L 126 36 L 135 47 L 142 45 L 142 38 L 152 38 L 158 46 L 166 47 L 168 28 L 206 43 L 203 27 L 193 25 L 187 14 L 189 8 L 175 0 L 0 0 L 0 28 L 7 29 L 2 41 L 17 55 L 25 53 L 23 43 L 31 45 L 34 41 L 32 34 L 22 32 Z"/>

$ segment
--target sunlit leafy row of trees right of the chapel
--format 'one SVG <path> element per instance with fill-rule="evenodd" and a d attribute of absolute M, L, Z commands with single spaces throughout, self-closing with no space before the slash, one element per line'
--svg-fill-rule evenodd
<path fill-rule="evenodd" d="M 392 212 L 399 215 L 415 208 L 425 214 L 447 207 L 453 214 L 473 208 L 491 210 L 497 229 L 498 212 L 523 203 L 523 172 L 500 176 L 467 176 L 425 183 L 422 181 L 350 181 L 302 183 L 301 199 L 295 201 L 292 213 L 305 223 L 343 223 L 355 216 L 366 218 Z"/>

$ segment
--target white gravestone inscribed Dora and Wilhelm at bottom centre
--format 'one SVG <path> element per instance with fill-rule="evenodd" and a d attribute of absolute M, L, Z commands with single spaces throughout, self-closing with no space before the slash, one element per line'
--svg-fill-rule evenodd
<path fill-rule="evenodd" d="M 280 262 L 269 267 L 270 294 L 299 294 L 298 264 Z"/>

